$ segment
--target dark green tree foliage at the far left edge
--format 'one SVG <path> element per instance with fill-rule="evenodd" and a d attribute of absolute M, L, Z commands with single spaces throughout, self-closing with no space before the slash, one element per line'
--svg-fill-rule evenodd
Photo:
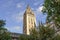
<path fill-rule="evenodd" d="M 5 21 L 0 20 L 0 40 L 11 40 L 10 33 L 4 28 Z"/>

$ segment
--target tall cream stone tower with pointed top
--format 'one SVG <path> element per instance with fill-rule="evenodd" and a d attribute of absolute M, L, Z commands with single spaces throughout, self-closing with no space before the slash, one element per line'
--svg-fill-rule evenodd
<path fill-rule="evenodd" d="M 30 30 L 36 26 L 35 23 L 35 15 L 31 8 L 27 6 L 27 9 L 23 15 L 23 33 L 30 35 Z"/>

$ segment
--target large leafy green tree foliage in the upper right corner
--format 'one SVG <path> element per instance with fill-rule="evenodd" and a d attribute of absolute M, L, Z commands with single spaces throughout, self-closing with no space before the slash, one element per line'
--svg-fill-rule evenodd
<path fill-rule="evenodd" d="M 48 22 L 53 21 L 57 28 L 60 27 L 60 0 L 44 0 L 43 12 L 47 14 Z"/>

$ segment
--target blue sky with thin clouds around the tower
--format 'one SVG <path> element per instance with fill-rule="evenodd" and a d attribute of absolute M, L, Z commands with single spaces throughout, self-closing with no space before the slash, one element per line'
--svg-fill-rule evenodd
<path fill-rule="evenodd" d="M 0 19 L 6 20 L 5 28 L 10 32 L 23 33 L 23 14 L 27 5 L 31 7 L 38 21 L 45 23 L 46 15 L 41 10 L 44 0 L 0 0 Z"/>

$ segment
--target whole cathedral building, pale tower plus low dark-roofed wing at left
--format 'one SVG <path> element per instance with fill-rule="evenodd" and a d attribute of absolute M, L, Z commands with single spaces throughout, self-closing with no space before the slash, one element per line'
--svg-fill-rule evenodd
<path fill-rule="evenodd" d="M 27 6 L 26 11 L 23 15 L 23 34 L 20 33 L 10 33 L 12 40 L 18 40 L 20 35 L 30 35 L 30 30 L 35 28 L 36 19 L 34 12 L 29 6 Z"/>

